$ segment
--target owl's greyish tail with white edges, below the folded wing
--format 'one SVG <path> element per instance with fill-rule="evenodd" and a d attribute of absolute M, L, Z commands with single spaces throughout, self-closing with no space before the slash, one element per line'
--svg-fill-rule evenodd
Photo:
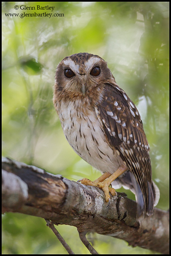
<path fill-rule="evenodd" d="M 115 189 L 123 186 L 123 188 L 130 189 L 132 193 L 135 194 L 137 202 L 137 216 L 140 216 L 143 213 L 144 217 L 146 216 L 146 214 L 153 214 L 153 207 L 157 205 L 160 198 L 160 191 L 153 181 L 152 184 L 150 182 L 148 183 L 149 193 L 147 207 L 145 207 L 142 191 L 132 172 L 128 171 L 125 173 L 124 176 L 118 177 L 115 181 L 112 182 L 112 185 Z M 146 212 L 144 212 L 145 209 Z"/>

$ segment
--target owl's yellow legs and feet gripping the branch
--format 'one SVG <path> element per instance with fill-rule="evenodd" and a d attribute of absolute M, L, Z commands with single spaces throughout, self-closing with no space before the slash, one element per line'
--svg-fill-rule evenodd
<path fill-rule="evenodd" d="M 87 186 L 94 186 L 99 187 L 104 191 L 105 194 L 105 200 L 106 202 L 110 202 L 110 195 L 117 196 L 116 190 L 114 188 L 109 187 L 109 185 L 121 174 L 123 174 L 127 170 L 127 167 L 122 165 L 120 166 L 116 172 L 114 172 L 112 175 L 109 172 L 105 172 L 103 175 L 101 175 L 97 180 L 90 181 L 87 178 L 83 178 L 79 180 L 81 184 L 87 185 Z"/>

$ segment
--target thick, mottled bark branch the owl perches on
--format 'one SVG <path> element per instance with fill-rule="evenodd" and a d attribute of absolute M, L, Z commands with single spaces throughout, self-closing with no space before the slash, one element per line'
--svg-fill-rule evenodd
<path fill-rule="evenodd" d="M 2 159 L 2 210 L 125 240 L 132 246 L 169 254 L 169 213 L 155 208 L 136 219 L 136 202 L 118 193 L 109 207 L 102 190 L 53 175 L 35 166 Z"/>

